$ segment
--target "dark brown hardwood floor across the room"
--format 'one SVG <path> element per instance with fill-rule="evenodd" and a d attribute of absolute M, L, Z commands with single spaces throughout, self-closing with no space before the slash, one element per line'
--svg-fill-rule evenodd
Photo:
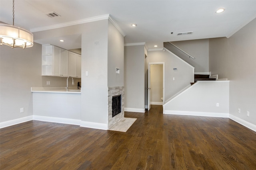
<path fill-rule="evenodd" d="M 1 170 L 255 170 L 256 132 L 228 118 L 137 118 L 126 133 L 28 121 L 0 129 Z"/>

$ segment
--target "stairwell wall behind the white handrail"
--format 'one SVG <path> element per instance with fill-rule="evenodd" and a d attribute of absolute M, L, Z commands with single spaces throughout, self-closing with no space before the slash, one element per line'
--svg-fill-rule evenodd
<path fill-rule="evenodd" d="M 174 54 L 194 66 L 195 72 L 209 72 L 209 39 L 196 39 L 189 41 L 174 41 L 174 45 L 186 51 L 196 59 L 189 58 L 188 55 L 181 53 L 179 50 L 170 46 Z"/>

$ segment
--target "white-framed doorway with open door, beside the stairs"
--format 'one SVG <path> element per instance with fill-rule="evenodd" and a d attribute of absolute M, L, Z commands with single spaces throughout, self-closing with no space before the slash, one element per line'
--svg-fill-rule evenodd
<path fill-rule="evenodd" d="M 148 110 L 164 104 L 164 63 L 148 63 Z"/>

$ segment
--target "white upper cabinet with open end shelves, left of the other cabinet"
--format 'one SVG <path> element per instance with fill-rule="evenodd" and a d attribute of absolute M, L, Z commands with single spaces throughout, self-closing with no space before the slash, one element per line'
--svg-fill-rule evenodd
<path fill-rule="evenodd" d="M 68 76 L 68 51 L 54 45 L 42 45 L 42 76 Z"/>

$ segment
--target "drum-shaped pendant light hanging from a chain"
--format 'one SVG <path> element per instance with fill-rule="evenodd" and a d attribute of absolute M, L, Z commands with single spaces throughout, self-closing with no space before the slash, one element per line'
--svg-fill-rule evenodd
<path fill-rule="evenodd" d="M 12 1 L 12 25 L 0 23 L 0 45 L 8 45 L 12 47 L 33 46 L 33 34 L 21 27 L 14 26 L 14 0 Z"/>

